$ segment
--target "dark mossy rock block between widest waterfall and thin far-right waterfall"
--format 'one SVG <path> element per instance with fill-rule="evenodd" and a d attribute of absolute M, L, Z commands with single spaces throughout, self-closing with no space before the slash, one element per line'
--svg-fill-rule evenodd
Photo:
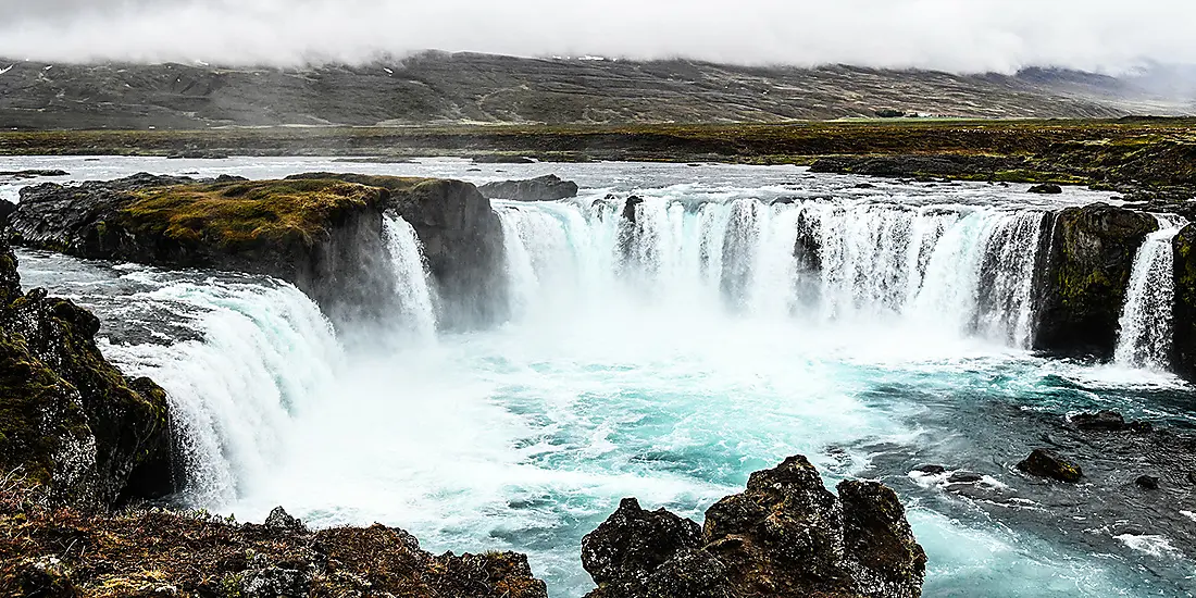
<path fill-rule="evenodd" d="M 1046 262 L 1036 281 L 1035 348 L 1111 358 L 1134 258 L 1158 227 L 1149 214 L 1105 203 L 1056 213 Z"/>

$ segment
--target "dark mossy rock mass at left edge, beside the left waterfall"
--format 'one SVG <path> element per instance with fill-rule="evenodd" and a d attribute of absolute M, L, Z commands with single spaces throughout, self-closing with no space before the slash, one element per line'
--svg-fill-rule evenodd
<path fill-rule="evenodd" d="M 0 469 L 55 501 L 106 506 L 172 492 L 166 393 L 104 360 L 99 321 L 44 291 L 20 293 L 0 250 Z"/>

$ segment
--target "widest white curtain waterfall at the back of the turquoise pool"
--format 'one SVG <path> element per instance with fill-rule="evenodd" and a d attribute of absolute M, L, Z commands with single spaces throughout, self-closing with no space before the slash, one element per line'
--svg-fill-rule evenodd
<path fill-rule="evenodd" d="M 614 285 L 677 309 L 1030 343 L 1043 212 L 750 199 L 649 199 L 635 209 L 630 222 L 614 202 L 500 206 L 515 305 L 543 295 L 544 276 L 572 277 L 582 298 Z"/>

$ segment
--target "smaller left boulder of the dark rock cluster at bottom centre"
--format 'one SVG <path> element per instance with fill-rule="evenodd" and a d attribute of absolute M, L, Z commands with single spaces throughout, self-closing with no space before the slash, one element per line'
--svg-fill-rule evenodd
<path fill-rule="evenodd" d="M 581 566 L 599 587 L 621 586 L 617 596 L 639 596 L 660 565 L 701 543 L 702 527 L 696 523 L 623 499 L 618 511 L 581 539 Z"/>

